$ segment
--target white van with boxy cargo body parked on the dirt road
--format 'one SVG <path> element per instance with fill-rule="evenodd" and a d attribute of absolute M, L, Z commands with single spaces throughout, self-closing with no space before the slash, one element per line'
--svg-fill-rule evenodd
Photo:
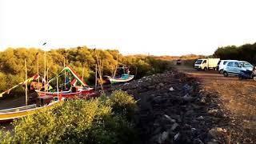
<path fill-rule="evenodd" d="M 219 58 L 203 58 L 194 62 L 194 68 L 197 70 L 217 70 Z"/>

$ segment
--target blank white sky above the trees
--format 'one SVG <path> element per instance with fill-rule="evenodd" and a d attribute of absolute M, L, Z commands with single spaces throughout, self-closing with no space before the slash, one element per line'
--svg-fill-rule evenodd
<path fill-rule="evenodd" d="M 256 42 L 255 6 L 253 0 L 0 0 L 0 50 L 213 54 L 218 46 Z"/>

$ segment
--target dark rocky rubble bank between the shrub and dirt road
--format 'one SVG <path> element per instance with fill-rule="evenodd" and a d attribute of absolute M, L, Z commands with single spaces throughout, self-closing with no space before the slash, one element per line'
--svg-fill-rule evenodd
<path fill-rule="evenodd" d="M 110 90 L 138 100 L 138 126 L 145 143 L 228 143 L 230 118 L 218 96 L 175 70 L 154 74 Z"/>

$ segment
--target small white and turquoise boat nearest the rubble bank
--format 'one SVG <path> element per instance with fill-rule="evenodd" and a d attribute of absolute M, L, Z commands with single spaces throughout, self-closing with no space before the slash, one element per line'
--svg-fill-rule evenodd
<path fill-rule="evenodd" d="M 117 72 L 118 72 L 118 76 L 109 77 L 109 81 L 111 84 L 120 83 L 120 82 L 129 82 L 134 78 L 134 75 L 130 75 L 130 71 L 128 67 L 124 67 L 124 66 L 118 67 Z"/>

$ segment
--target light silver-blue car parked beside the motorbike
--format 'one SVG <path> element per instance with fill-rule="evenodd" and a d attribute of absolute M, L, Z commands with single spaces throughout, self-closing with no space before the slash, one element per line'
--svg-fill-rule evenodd
<path fill-rule="evenodd" d="M 224 77 L 228 77 L 229 75 L 238 75 L 241 70 L 250 70 L 252 71 L 254 66 L 252 66 L 249 62 L 246 61 L 231 61 L 227 62 L 226 66 L 224 66 L 223 74 Z"/>

